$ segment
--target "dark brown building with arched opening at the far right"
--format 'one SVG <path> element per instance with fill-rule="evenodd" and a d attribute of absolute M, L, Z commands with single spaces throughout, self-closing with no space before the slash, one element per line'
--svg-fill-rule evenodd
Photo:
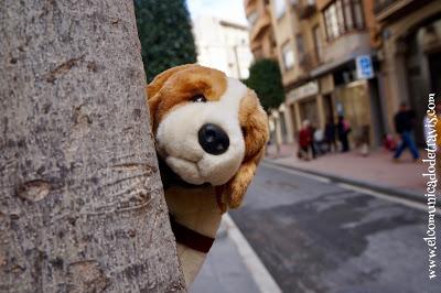
<path fill-rule="evenodd" d="M 378 48 L 386 129 L 401 101 L 417 112 L 416 137 L 423 143 L 423 117 L 429 93 L 441 93 L 441 1 L 377 0 L 381 25 Z"/>

